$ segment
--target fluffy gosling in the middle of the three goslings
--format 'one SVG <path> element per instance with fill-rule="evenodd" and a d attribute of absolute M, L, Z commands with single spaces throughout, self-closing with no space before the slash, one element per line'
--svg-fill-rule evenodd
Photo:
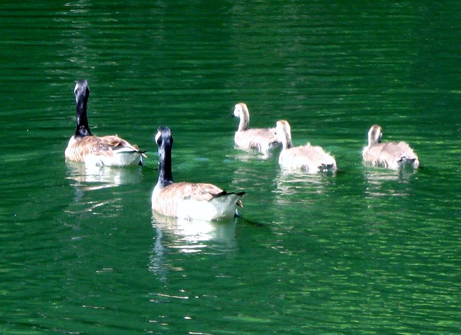
<path fill-rule="evenodd" d="M 276 134 L 282 142 L 279 164 L 290 170 L 304 170 L 307 173 L 334 172 L 336 160 L 320 146 L 305 145 L 294 147 L 291 144 L 291 129 L 286 120 L 277 121 Z"/>

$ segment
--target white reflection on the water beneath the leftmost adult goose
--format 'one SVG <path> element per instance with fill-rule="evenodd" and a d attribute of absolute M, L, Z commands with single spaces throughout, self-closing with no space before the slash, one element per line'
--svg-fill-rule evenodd
<path fill-rule="evenodd" d="M 77 162 L 66 162 L 66 165 L 68 167 L 66 179 L 75 180 L 76 183 L 72 186 L 79 186 L 83 191 L 134 184 L 141 180 L 141 169 L 138 167 L 110 168 Z"/>

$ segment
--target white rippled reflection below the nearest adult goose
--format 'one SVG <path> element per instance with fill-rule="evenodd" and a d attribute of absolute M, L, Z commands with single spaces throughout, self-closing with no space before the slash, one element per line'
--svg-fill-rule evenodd
<path fill-rule="evenodd" d="M 201 253 L 212 247 L 213 252 L 217 249 L 222 252 L 235 249 L 236 223 L 237 218 L 221 221 L 187 220 L 153 212 L 152 226 L 156 234 L 149 270 L 164 282 L 169 270 L 180 270 L 167 264 L 168 253 Z"/>

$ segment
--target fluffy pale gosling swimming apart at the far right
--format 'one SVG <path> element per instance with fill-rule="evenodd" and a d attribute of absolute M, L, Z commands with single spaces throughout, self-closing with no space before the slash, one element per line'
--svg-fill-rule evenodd
<path fill-rule="evenodd" d="M 363 148 L 363 160 L 373 165 L 383 165 L 385 168 L 398 170 L 405 166 L 416 169 L 420 166 L 418 156 L 413 152 L 408 143 L 386 142 L 381 143 L 383 129 L 374 124 L 368 131 L 368 145 Z"/>

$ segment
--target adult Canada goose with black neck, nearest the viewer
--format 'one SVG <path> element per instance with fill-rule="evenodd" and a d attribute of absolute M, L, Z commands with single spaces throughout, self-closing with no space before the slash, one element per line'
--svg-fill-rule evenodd
<path fill-rule="evenodd" d="M 245 192 L 227 193 L 206 183 L 173 182 L 171 149 L 173 136 L 168 127 L 159 127 L 155 135 L 158 145 L 158 181 L 152 192 L 152 210 L 164 216 L 185 219 L 216 220 L 231 218 Z"/>

